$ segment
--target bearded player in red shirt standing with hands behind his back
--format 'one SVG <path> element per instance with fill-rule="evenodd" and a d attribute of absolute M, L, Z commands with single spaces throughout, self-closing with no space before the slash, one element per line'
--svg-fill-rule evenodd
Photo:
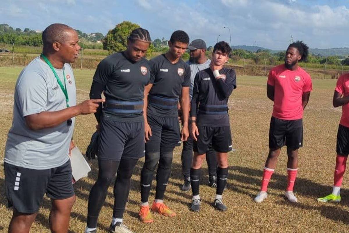
<path fill-rule="evenodd" d="M 254 201 L 267 198 L 267 187 L 276 167 L 281 147 L 287 146 L 288 185 L 285 196 L 290 202 L 297 202 L 293 194 L 297 170 L 298 148 L 303 146 L 303 110 L 312 90 L 311 78 L 298 61 L 305 61 L 309 47 L 302 41 L 288 46 L 285 63 L 274 67 L 268 76 L 267 96 L 274 101 L 269 129 L 269 154 L 263 170 L 260 192 Z"/>

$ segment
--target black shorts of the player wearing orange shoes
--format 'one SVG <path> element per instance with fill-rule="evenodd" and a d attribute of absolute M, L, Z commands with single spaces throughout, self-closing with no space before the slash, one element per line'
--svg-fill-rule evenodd
<path fill-rule="evenodd" d="M 162 117 L 149 114 L 151 137 L 146 143 L 147 152 L 159 152 L 160 147 L 175 147 L 180 143 L 178 117 Z"/>

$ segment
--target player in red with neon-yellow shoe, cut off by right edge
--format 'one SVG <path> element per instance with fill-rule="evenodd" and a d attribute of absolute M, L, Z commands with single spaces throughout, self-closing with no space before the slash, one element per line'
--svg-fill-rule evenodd
<path fill-rule="evenodd" d="M 337 80 L 333 94 L 333 107 L 339 106 L 342 106 L 342 117 L 337 132 L 337 157 L 333 190 L 332 194 L 318 198 L 319 202 L 341 201 L 340 189 L 349 154 L 349 74 L 343 74 Z"/>

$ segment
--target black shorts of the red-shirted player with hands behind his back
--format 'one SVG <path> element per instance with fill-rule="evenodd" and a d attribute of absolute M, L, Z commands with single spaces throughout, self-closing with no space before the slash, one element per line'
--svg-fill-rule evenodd
<path fill-rule="evenodd" d="M 296 150 L 303 146 L 303 119 L 282 120 L 272 116 L 269 128 L 269 149 L 283 146 Z"/>

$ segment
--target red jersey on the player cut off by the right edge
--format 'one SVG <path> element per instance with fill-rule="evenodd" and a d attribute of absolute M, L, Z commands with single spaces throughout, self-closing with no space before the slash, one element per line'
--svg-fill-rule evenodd
<path fill-rule="evenodd" d="M 335 91 L 344 97 L 349 95 L 349 74 L 343 74 L 339 77 Z M 342 105 L 342 117 L 339 124 L 349 127 L 349 103 Z"/>

